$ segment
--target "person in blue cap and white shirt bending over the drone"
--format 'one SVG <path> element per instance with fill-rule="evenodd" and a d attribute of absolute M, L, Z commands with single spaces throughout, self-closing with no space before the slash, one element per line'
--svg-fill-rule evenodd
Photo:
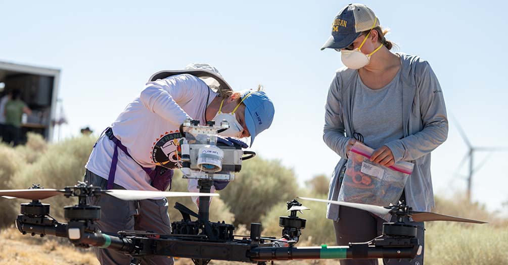
<path fill-rule="evenodd" d="M 103 189 L 171 189 L 177 168 L 176 143 L 179 127 L 186 118 L 228 120 L 230 128 L 220 135 L 250 137 L 270 127 L 274 108 L 265 92 L 233 92 L 220 73 L 209 64 L 189 64 L 185 70 L 155 74 L 141 94 L 131 102 L 94 146 L 85 165 L 85 181 Z M 216 187 L 217 189 L 223 187 Z M 93 199 L 101 206 L 99 229 L 151 230 L 170 234 L 168 202 L 160 200 L 122 201 L 112 196 Z M 129 264 L 121 252 L 96 248 L 101 264 Z M 173 264 L 164 256 L 144 258 L 143 264 Z"/>

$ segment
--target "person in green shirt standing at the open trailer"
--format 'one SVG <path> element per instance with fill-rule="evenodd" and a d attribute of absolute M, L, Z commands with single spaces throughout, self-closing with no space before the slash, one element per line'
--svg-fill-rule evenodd
<path fill-rule="evenodd" d="M 23 113 L 31 114 L 31 110 L 19 98 L 21 91 L 12 91 L 12 98 L 5 104 L 5 132 L 4 141 L 13 142 L 14 146 L 19 144 L 21 139 L 21 116 Z"/>

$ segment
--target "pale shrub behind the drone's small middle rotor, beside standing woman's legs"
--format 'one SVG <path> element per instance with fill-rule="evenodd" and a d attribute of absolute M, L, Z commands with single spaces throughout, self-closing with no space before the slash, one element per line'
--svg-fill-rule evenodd
<path fill-rule="evenodd" d="M 305 196 L 327 200 L 323 194 L 304 194 Z M 300 242 L 303 245 L 332 244 L 335 245 L 335 230 L 332 220 L 326 218 L 326 204 L 299 200 L 303 206 L 310 208 L 304 210 L 298 217 L 306 219 L 306 227 L 302 230 Z M 282 227 L 279 226 L 279 216 L 288 216 L 286 202 L 276 204 L 263 218 L 263 236 L 281 236 Z M 302 245 L 302 244 L 300 244 Z"/>

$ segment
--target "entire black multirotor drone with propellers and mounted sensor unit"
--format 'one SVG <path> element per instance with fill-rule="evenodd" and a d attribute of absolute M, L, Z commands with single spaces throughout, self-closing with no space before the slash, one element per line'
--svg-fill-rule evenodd
<path fill-rule="evenodd" d="M 293 259 L 365 259 L 396 258 L 412 259 L 421 254 L 417 226 L 405 222 L 410 217 L 416 222 L 455 221 L 486 223 L 484 221 L 454 217 L 432 212 L 414 211 L 404 202 L 386 207 L 327 201 L 316 198 L 298 197 L 298 200 L 316 201 L 365 210 L 374 214 L 396 216 L 395 222 L 383 224 L 383 233 L 368 242 L 353 242 L 347 246 L 295 246 L 306 219 L 298 213 L 309 208 L 297 199 L 287 203 L 288 216 L 279 217 L 281 236 L 262 237 L 261 223 L 250 224 L 250 235 L 234 235 L 232 224 L 211 222 L 209 220 L 210 197 L 218 196 L 211 192 L 213 181 L 233 181 L 234 174 L 241 170 L 242 160 L 256 154 L 243 151 L 241 145 L 221 143 L 218 132 L 228 128 L 223 121 L 220 126 L 209 122 L 207 126 L 199 121 L 186 120 L 182 131 L 185 137 L 180 143 L 180 170 L 183 178 L 197 179 L 200 192 L 141 191 L 141 190 L 103 190 L 100 187 L 78 182 L 75 186 L 63 189 L 46 189 L 34 185 L 29 189 L 0 190 L 5 198 L 32 200 L 21 204 L 21 212 L 16 218 L 16 227 L 23 234 L 31 236 L 46 235 L 68 238 L 76 247 L 90 246 L 108 248 L 124 252 L 132 257 L 131 264 L 140 264 L 147 256 L 164 255 L 191 258 L 196 265 L 206 265 L 211 260 L 228 260 L 266 265 L 268 261 Z M 247 154 L 246 156 L 243 156 Z M 77 197 L 78 203 L 63 208 L 68 221 L 62 223 L 49 215 L 49 204 L 41 203 L 46 198 L 64 195 Z M 150 198 L 199 196 L 198 213 L 176 203 L 174 208 L 182 215 L 181 221 L 171 224 L 171 234 L 160 235 L 153 231 L 118 231 L 106 233 L 97 227 L 101 208 L 92 206 L 87 198 L 114 196 L 121 200 L 145 200 Z M 195 217 L 192 220 L 191 217 Z"/>

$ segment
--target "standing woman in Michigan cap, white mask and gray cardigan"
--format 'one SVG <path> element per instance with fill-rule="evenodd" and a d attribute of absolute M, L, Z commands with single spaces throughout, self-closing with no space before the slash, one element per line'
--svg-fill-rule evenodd
<path fill-rule="evenodd" d="M 430 152 L 448 136 L 448 118 L 439 82 L 429 63 L 416 55 L 393 53 L 365 5 L 339 11 L 332 36 L 323 46 L 341 53 L 340 68 L 330 85 L 323 139 L 341 159 L 330 182 L 329 200 L 337 200 L 347 156 L 356 141 L 375 149 L 371 161 L 390 167 L 415 163 L 401 199 L 416 211 L 430 211 L 434 195 Z M 345 136 L 344 136 L 345 133 Z M 355 139 L 356 138 L 356 139 Z M 366 242 L 382 233 L 383 219 L 366 211 L 328 205 L 338 245 Z M 409 220 L 407 220 L 409 221 Z M 418 239 L 424 245 L 424 224 Z M 341 264 L 377 264 L 377 260 L 342 260 Z M 423 264 L 423 252 L 412 260 L 385 259 L 385 264 Z"/>

